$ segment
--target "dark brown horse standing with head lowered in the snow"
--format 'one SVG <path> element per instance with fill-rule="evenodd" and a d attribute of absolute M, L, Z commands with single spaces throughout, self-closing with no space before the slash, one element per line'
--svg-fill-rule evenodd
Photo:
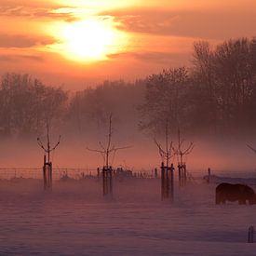
<path fill-rule="evenodd" d="M 244 184 L 221 183 L 216 187 L 216 204 L 225 204 L 226 201 L 238 201 L 239 205 L 256 204 L 256 195 L 252 188 Z"/>

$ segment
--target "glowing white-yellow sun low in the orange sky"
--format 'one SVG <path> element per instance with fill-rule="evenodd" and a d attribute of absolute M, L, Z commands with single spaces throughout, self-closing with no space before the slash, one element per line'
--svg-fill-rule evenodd
<path fill-rule="evenodd" d="M 58 28 L 57 34 L 61 43 L 55 49 L 72 61 L 106 60 L 124 43 L 124 36 L 107 20 L 67 23 Z"/>

